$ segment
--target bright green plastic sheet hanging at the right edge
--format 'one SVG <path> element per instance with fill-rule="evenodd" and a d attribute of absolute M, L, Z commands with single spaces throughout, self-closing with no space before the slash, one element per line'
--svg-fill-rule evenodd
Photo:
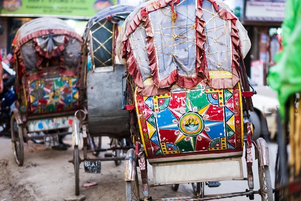
<path fill-rule="evenodd" d="M 277 64 L 269 70 L 268 83 L 278 91 L 280 114 L 288 97 L 301 92 L 301 0 L 287 0 L 282 24 L 283 51 L 276 56 Z"/>

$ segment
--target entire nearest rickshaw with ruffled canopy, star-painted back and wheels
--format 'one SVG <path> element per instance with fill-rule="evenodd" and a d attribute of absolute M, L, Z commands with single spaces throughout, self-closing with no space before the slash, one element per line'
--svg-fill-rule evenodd
<path fill-rule="evenodd" d="M 273 200 L 267 144 L 262 138 L 253 142 L 254 127 L 243 121 L 253 110 L 255 93 L 243 63 L 250 41 L 230 9 L 214 0 L 146 2 L 127 17 L 117 44 L 127 66 L 125 109 L 135 144 L 124 162 L 126 200 L 152 200 L 151 186 L 172 184 L 177 190 L 181 183 L 192 183 L 195 196 L 161 200 L 254 199 L 254 194 Z M 252 147 L 259 190 L 254 189 Z M 216 180 L 247 180 L 249 189 L 205 195 L 204 183 Z"/>

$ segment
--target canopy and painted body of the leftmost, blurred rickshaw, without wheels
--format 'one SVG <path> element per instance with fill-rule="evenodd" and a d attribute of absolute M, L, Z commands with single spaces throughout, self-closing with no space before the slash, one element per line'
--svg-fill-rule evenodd
<path fill-rule="evenodd" d="M 23 25 L 14 40 L 17 91 L 28 116 L 61 116 L 79 108 L 81 37 L 60 19 Z"/>

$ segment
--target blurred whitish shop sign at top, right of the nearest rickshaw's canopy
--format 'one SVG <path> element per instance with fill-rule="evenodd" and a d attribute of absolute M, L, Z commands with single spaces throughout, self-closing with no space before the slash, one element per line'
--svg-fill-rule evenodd
<path fill-rule="evenodd" d="M 244 21 L 282 22 L 285 0 L 247 0 Z"/>

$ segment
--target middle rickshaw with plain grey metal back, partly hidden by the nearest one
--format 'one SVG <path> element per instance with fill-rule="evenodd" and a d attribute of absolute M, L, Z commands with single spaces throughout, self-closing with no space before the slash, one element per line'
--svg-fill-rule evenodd
<path fill-rule="evenodd" d="M 83 35 L 83 61 L 79 97 L 81 110 L 75 113 L 73 123 L 75 194 L 79 195 L 79 165 L 84 163 L 87 173 L 100 173 L 101 161 L 120 165 L 129 149 L 128 113 L 122 111 L 122 74 L 125 67 L 115 64 L 115 44 L 118 23 L 122 23 L 135 7 L 109 7 L 92 17 Z M 90 61 L 89 61 L 90 60 Z M 88 63 L 91 62 L 91 66 Z M 88 65 L 88 66 L 87 66 Z M 80 131 L 83 137 L 83 159 L 79 156 Z M 101 149 L 101 137 L 110 137 L 110 148 Z M 109 152 L 108 152 L 109 151 Z M 97 157 L 106 152 L 104 157 Z M 96 158 L 89 158 L 92 153 Z"/>

